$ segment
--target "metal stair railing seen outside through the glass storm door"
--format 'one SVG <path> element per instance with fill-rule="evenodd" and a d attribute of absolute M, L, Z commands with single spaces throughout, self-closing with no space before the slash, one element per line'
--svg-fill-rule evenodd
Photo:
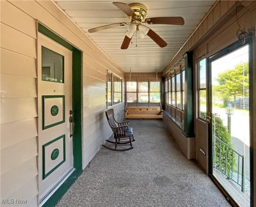
<path fill-rule="evenodd" d="M 237 183 L 244 192 L 244 156 L 232 149 L 228 144 L 215 137 L 214 167 Z M 236 164 L 237 162 L 237 164 Z"/>

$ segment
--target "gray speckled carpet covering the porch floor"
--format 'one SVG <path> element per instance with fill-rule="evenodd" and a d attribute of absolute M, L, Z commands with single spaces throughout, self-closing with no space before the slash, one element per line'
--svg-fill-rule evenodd
<path fill-rule="evenodd" d="M 230 206 L 163 121 L 132 120 L 134 149 L 101 148 L 57 206 Z"/>

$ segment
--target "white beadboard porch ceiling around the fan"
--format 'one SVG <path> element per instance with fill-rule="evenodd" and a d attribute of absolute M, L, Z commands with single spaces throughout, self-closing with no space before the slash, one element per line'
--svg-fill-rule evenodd
<path fill-rule="evenodd" d="M 116 22 L 128 22 L 123 11 L 119 10 L 112 1 L 68 1 L 54 0 L 67 13 L 84 33 L 124 72 L 163 72 L 164 68 L 177 51 L 182 47 L 189 35 L 194 31 L 205 13 L 215 1 L 120 1 L 123 3 L 142 3 L 147 6 L 147 17 L 180 16 L 185 20 L 184 26 L 148 25 L 168 45 L 160 48 L 148 36 L 143 40 L 132 38 L 127 50 L 120 47 L 124 40 L 127 26 L 115 27 L 88 33 L 88 29 Z"/>

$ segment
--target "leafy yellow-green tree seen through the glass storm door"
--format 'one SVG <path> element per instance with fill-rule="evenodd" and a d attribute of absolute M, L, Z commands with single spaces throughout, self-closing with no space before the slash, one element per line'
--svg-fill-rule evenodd
<path fill-rule="evenodd" d="M 215 90 L 217 93 L 220 93 L 220 96 L 223 98 L 223 102 L 225 103 L 225 105 L 227 105 L 227 102 L 230 100 L 231 97 L 234 98 L 234 103 L 236 103 L 237 96 L 248 96 L 248 62 L 244 63 L 244 65 L 237 65 L 235 69 L 226 70 L 225 72 L 220 73 L 218 75 L 218 78 L 216 78 L 216 81 L 218 81 L 220 85 L 215 86 Z"/>

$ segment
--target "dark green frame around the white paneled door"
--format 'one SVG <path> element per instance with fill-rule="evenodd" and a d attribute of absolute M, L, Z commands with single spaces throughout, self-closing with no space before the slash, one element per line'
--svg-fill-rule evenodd
<path fill-rule="evenodd" d="M 61 186 L 49 197 L 42 206 L 55 206 L 61 197 L 76 181 L 78 176 L 83 172 L 82 156 L 82 118 L 83 118 L 83 52 L 77 47 L 67 42 L 64 38 L 54 33 L 51 29 L 44 26 L 41 22 L 36 22 L 37 32 L 44 34 L 54 42 L 72 51 L 72 111 L 75 123 L 74 135 L 72 137 L 72 149 L 74 158 L 75 171 L 68 176 Z"/>

